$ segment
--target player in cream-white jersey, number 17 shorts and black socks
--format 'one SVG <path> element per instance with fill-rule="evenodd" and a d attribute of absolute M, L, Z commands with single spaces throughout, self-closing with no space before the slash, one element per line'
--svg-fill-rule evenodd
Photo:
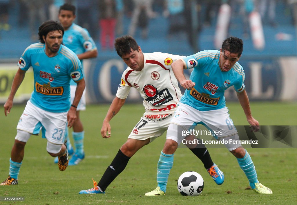
<path fill-rule="evenodd" d="M 178 82 L 170 68 L 170 64 L 181 56 L 160 52 L 143 53 L 132 36 L 117 38 L 115 48 L 128 68 L 122 75 L 116 97 L 103 121 L 102 137 L 111 137 L 109 121 L 124 105 L 131 87 L 134 87 L 144 99 L 145 113 L 132 129 L 127 142 L 121 146 L 116 157 L 105 170 L 99 183 L 96 184 L 94 181 L 94 188 L 82 190 L 80 194 L 105 193 L 108 185 L 125 169 L 129 159 L 140 148 L 151 143 L 167 130 L 181 98 Z M 219 185 L 222 184 L 224 174 L 212 162 L 205 145 L 189 145 L 188 148 L 203 162 L 214 181 Z"/>

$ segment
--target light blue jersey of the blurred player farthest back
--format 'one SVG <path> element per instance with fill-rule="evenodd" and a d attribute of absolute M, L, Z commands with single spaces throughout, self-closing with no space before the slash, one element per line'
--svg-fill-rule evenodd
<path fill-rule="evenodd" d="M 97 49 L 96 44 L 94 43 L 94 40 L 90 36 L 89 32 L 74 23 L 67 30 L 65 30 L 63 44 L 75 52 L 75 54 L 82 54 L 86 51 Z M 80 62 L 81 65 L 83 65 L 83 60 L 80 60 Z M 73 81 L 71 81 L 70 84 L 76 85 L 76 83 Z"/>

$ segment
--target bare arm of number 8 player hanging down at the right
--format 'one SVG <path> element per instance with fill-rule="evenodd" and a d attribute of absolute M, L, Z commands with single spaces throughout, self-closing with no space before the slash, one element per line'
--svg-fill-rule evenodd
<path fill-rule="evenodd" d="M 243 90 L 241 93 L 236 92 L 238 101 L 244 110 L 244 114 L 247 117 L 247 121 L 251 125 L 250 128 L 252 131 L 257 132 L 259 127 L 259 122 L 252 116 L 251 108 L 249 107 L 249 97 L 247 96 L 247 92 Z"/>

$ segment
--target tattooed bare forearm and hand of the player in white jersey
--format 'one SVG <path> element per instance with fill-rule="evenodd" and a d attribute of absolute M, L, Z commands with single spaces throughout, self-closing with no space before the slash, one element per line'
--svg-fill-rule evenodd
<path fill-rule="evenodd" d="M 109 121 L 111 120 L 111 118 L 113 118 L 113 116 L 115 116 L 120 111 L 125 101 L 126 99 L 115 97 L 112 103 L 110 104 L 110 107 L 102 123 L 101 135 L 103 138 L 110 138 L 111 127 L 110 127 Z"/>

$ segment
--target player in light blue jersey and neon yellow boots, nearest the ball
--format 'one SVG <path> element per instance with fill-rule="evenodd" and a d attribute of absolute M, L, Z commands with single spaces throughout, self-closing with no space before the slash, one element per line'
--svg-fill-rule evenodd
<path fill-rule="evenodd" d="M 255 132 L 259 130 L 259 122 L 251 114 L 249 98 L 244 89 L 244 70 L 237 62 L 242 51 L 242 40 L 237 37 L 229 37 L 223 41 L 220 51 L 200 51 L 172 63 L 171 68 L 176 79 L 187 90 L 181 97 L 175 117 L 172 118 L 168 127 L 166 142 L 157 165 L 157 178 L 159 169 L 163 168 L 167 169 L 166 178 L 168 179 L 173 163 L 173 154 L 182 140 L 179 137 L 182 134 L 180 132 L 187 130 L 189 125 L 203 124 L 212 131 L 220 129 L 222 134 L 216 136 L 217 140 L 239 140 L 225 104 L 224 92 L 231 86 L 234 86 L 236 90 L 239 103 L 252 130 Z M 194 69 L 190 79 L 187 80 L 183 69 L 190 68 Z M 229 143 L 225 145 L 236 157 L 252 189 L 257 193 L 272 194 L 268 187 L 258 181 L 255 166 L 247 150 L 241 144 Z M 168 166 L 164 168 L 164 165 Z M 164 170 L 163 173 L 165 173 Z M 162 177 L 165 175 L 163 174 Z M 157 182 L 158 187 L 146 195 L 153 195 L 160 191 L 165 192 L 167 183 L 160 182 L 158 179 Z"/>

